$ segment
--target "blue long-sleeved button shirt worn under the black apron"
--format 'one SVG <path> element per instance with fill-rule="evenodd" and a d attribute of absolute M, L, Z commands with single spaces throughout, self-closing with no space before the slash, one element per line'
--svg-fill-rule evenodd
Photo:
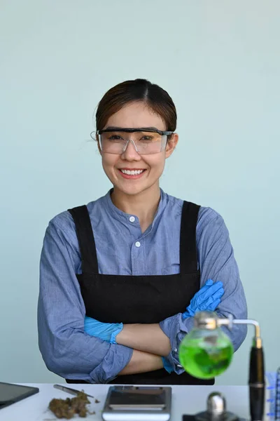
<path fill-rule="evenodd" d="M 116 208 L 110 192 L 88 203 L 99 273 L 178 274 L 182 206 L 181 199 L 161 191 L 158 212 L 152 225 L 142 233 L 137 216 Z M 139 243 L 135 246 L 136 242 L 140 246 Z M 221 215 L 211 208 L 200 208 L 197 255 L 201 286 L 207 279 L 223 282 L 225 294 L 218 314 L 246 318 L 246 299 L 228 229 Z M 80 273 L 75 225 L 70 213 L 63 212 L 50 221 L 43 241 L 38 298 L 39 348 L 46 366 L 54 373 L 75 380 L 106 383 L 129 363 L 133 350 L 84 332 L 85 306 L 76 278 Z M 192 326 L 193 318 L 182 321 L 181 314 L 160 323 L 172 345 L 168 360 L 178 374 L 183 371 L 179 365 L 179 344 Z M 236 350 L 246 337 L 246 326 L 224 329 Z"/>

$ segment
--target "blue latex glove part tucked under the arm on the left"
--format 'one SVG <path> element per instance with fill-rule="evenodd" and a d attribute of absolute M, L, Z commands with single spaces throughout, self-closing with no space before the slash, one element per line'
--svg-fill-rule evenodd
<path fill-rule="evenodd" d="M 85 316 L 84 328 L 88 335 L 116 344 L 116 336 L 123 330 L 123 323 L 102 323 Z"/>

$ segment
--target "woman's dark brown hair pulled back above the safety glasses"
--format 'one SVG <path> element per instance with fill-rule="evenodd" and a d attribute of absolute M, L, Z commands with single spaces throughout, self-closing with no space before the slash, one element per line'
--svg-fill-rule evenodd
<path fill-rule="evenodd" d="M 176 130 L 177 114 L 172 98 L 167 91 L 146 79 L 118 83 L 105 93 L 97 108 L 97 130 L 102 130 L 109 118 L 125 105 L 138 101 L 145 102 L 165 121 L 167 131 Z"/>

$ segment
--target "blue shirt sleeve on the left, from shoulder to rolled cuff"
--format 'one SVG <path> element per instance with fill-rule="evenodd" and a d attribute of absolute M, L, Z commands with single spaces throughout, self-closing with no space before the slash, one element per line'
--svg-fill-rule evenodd
<path fill-rule="evenodd" d="M 75 267 L 80 258 L 73 247 L 76 241 L 78 248 L 78 240 L 74 229 L 68 231 L 66 235 L 51 221 L 45 232 L 40 262 L 38 345 L 50 371 L 68 379 L 106 383 L 127 366 L 133 350 L 84 332 L 85 306 Z"/>

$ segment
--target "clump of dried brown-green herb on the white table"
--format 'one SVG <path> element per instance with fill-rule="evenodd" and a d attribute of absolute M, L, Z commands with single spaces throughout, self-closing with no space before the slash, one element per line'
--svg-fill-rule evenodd
<path fill-rule="evenodd" d="M 48 407 L 57 418 L 70 420 L 75 414 L 85 418 L 89 412 L 86 408 L 87 403 L 90 403 L 87 395 L 84 392 L 78 392 L 72 399 L 52 399 Z"/>

